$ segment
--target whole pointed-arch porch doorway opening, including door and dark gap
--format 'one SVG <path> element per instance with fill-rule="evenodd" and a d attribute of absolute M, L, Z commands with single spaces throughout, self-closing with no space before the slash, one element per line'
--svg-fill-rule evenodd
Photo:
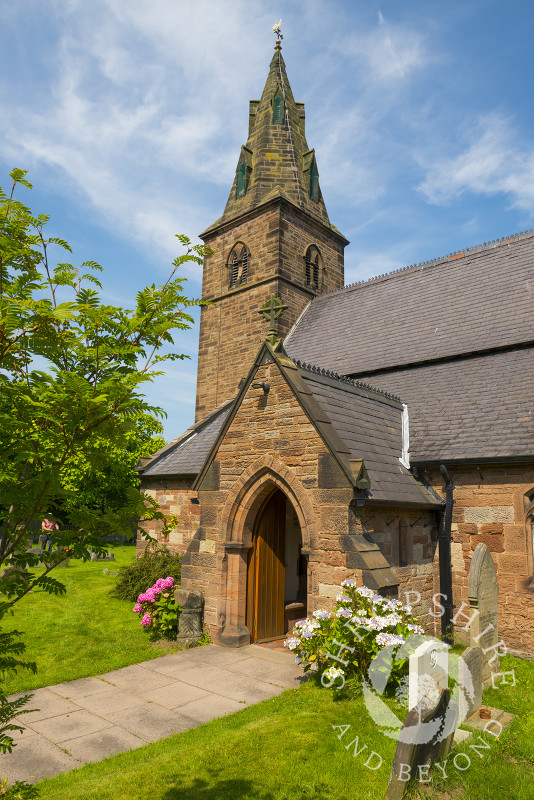
<path fill-rule="evenodd" d="M 277 489 L 256 517 L 247 565 L 247 628 L 251 642 L 283 637 L 306 616 L 307 559 L 295 510 Z"/>

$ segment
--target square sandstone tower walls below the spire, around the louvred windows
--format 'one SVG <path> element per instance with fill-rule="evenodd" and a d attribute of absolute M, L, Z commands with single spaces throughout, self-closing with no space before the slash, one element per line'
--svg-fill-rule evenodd
<path fill-rule="evenodd" d="M 230 288 L 227 259 L 237 242 L 249 250 L 246 284 Z M 213 250 L 204 263 L 196 419 L 237 391 L 265 339 L 269 325 L 258 314 L 271 294 L 288 306 L 278 323 L 285 337 L 317 294 L 306 285 L 304 256 L 315 244 L 322 256 L 320 292 L 343 285 L 343 244 L 312 217 L 281 202 L 252 212 L 205 238 Z"/>

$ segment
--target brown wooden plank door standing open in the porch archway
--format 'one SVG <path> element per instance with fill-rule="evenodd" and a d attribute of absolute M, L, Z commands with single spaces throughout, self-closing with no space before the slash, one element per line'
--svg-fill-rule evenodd
<path fill-rule="evenodd" d="M 277 490 L 258 515 L 249 555 L 247 627 L 251 641 L 284 636 L 286 498 Z"/>

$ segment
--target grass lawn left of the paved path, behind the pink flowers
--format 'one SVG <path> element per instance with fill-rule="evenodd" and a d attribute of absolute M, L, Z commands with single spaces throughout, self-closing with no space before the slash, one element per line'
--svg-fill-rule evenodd
<path fill-rule="evenodd" d="M 104 575 L 104 568 L 116 572 L 135 558 L 135 547 L 112 549 L 115 561 L 71 560 L 54 570 L 51 574 L 65 584 L 66 594 L 26 595 L 14 616 L 4 618 L 3 629 L 22 631 L 26 658 L 37 663 L 35 675 L 19 670 L 7 680 L 6 694 L 110 672 L 180 649 L 150 642 L 133 604 L 110 596 L 117 579 Z"/>

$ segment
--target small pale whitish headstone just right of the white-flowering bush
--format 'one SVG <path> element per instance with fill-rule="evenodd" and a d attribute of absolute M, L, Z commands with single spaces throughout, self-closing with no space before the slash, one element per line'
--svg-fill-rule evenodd
<path fill-rule="evenodd" d="M 443 689 L 448 688 L 449 646 L 439 639 L 430 639 L 410 656 L 408 676 L 408 708 L 422 704 L 434 708 Z"/>

